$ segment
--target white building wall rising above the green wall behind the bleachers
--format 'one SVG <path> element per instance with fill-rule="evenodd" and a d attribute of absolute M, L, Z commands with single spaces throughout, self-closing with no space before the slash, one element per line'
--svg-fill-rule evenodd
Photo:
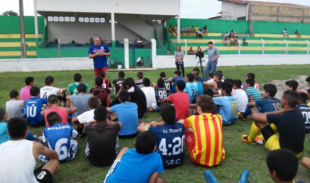
<path fill-rule="evenodd" d="M 239 17 L 246 16 L 247 4 L 235 4 L 222 2 L 223 20 L 237 20 Z M 225 13 L 226 12 L 226 13 Z M 229 17 L 230 16 L 230 17 Z"/>

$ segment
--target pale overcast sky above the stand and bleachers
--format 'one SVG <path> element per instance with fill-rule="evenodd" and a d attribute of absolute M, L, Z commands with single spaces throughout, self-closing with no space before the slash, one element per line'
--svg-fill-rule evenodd
<path fill-rule="evenodd" d="M 50 0 L 51 1 L 51 0 Z M 289 3 L 295 5 L 310 6 L 309 0 L 252 0 L 260 2 Z M 180 0 L 180 17 L 181 18 L 210 18 L 218 16 L 221 12 L 222 2 L 218 0 L 202 0 L 197 3 L 196 0 Z M 24 16 L 34 16 L 34 1 L 23 0 Z M 18 0 L 1 0 L 0 14 L 12 10 L 19 14 Z"/>

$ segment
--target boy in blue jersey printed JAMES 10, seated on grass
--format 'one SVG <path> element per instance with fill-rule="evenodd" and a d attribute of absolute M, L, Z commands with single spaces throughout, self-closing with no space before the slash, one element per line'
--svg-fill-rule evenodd
<path fill-rule="evenodd" d="M 41 115 L 42 105 L 47 104 L 47 99 L 40 98 L 40 88 L 33 86 L 30 88 L 31 98 L 25 101 L 26 119 L 28 125 L 45 125 L 44 118 Z M 46 105 L 45 105 L 46 106 Z"/>

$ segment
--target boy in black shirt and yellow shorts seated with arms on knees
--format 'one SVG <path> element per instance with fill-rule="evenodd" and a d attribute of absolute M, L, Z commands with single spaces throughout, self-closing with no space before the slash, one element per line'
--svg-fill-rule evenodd
<path fill-rule="evenodd" d="M 298 94 L 293 90 L 286 90 L 281 97 L 282 114 L 262 115 L 256 107 L 252 107 L 252 119 L 260 129 L 266 140 L 268 150 L 285 148 L 292 150 L 299 157 L 304 149 L 305 124 L 302 114 L 295 110 Z M 278 135 L 269 124 L 274 124 Z M 279 140 L 281 139 L 281 140 Z"/>

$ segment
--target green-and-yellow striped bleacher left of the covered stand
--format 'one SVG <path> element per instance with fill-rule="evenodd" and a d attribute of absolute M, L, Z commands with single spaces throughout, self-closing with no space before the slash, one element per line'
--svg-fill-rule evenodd
<path fill-rule="evenodd" d="M 37 57 L 35 34 L 25 34 L 27 58 Z M 0 59 L 21 58 L 20 35 L 0 34 Z"/>

